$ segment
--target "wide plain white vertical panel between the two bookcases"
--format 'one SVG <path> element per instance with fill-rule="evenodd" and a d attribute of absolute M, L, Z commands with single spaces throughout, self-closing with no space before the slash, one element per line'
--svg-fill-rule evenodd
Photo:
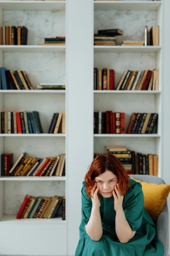
<path fill-rule="evenodd" d="M 81 188 L 93 158 L 93 1 L 67 2 L 68 255 L 75 255 Z"/>

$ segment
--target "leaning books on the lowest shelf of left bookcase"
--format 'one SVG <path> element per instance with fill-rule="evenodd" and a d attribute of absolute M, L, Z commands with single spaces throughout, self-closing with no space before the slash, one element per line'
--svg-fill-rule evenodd
<path fill-rule="evenodd" d="M 16 218 L 56 218 L 61 207 L 62 220 L 65 220 L 65 196 L 26 195 Z"/>

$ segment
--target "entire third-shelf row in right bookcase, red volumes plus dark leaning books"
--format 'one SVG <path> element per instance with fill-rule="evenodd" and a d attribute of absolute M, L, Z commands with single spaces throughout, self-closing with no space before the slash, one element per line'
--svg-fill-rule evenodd
<path fill-rule="evenodd" d="M 124 112 L 94 112 L 94 134 L 124 134 L 124 120 Z M 157 133 L 157 122 L 157 113 L 133 113 L 127 133 Z"/>

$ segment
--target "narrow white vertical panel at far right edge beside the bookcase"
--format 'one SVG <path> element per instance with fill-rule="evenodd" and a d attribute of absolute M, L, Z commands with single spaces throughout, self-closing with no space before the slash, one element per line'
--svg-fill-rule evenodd
<path fill-rule="evenodd" d="M 164 37 L 163 37 L 163 179 L 166 184 L 170 184 L 169 155 L 170 155 L 170 81 L 169 81 L 169 61 L 170 61 L 170 1 L 164 0 Z M 168 208 L 170 209 L 170 195 L 168 196 Z M 169 211 L 170 218 L 170 211 Z M 170 233 L 170 221 L 169 221 Z M 169 235 L 170 253 L 170 235 Z M 168 253 L 168 254 L 169 254 Z"/>

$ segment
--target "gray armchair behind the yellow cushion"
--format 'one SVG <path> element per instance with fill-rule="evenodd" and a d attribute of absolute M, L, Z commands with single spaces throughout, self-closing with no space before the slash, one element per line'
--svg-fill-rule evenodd
<path fill-rule="evenodd" d="M 138 179 L 140 181 L 145 181 L 148 183 L 155 183 L 155 184 L 165 184 L 164 180 L 158 178 L 156 176 L 151 175 L 129 175 L 129 177 L 133 177 L 134 179 Z M 157 223 L 156 223 L 156 235 L 163 244 L 165 254 L 164 256 L 168 255 L 168 205 L 167 200 L 163 206 L 161 213 L 158 216 Z"/>

